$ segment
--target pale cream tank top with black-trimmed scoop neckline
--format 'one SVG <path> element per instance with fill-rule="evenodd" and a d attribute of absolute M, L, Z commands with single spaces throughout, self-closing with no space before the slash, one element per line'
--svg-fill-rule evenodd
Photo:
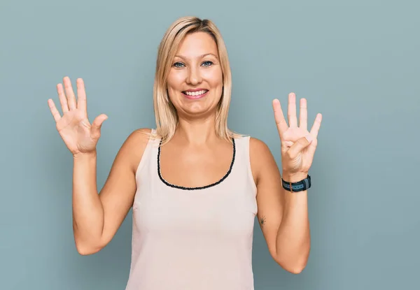
<path fill-rule="evenodd" d="M 164 180 L 159 145 L 148 141 L 136 172 L 126 290 L 253 290 L 249 136 L 234 139 L 221 180 L 194 188 Z"/>

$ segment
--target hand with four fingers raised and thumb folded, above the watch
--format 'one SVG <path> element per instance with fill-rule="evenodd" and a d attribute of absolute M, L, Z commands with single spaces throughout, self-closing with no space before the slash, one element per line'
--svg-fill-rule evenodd
<path fill-rule="evenodd" d="M 287 181 L 297 182 L 307 177 L 314 159 L 322 115 L 318 113 L 311 131 L 307 130 L 307 100 L 300 99 L 299 126 L 296 117 L 296 96 L 288 95 L 288 124 L 280 101 L 273 101 L 274 119 L 281 140 L 281 166 Z"/>

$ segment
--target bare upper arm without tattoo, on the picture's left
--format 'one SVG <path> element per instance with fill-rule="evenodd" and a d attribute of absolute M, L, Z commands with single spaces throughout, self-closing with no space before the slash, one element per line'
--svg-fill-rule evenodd
<path fill-rule="evenodd" d="M 99 199 L 104 209 L 102 247 L 108 244 L 132 207 L 137 190 L 136 171 L 148 143 L 150 129 L 139 129 L 127 137 L 113 161 Z"/>

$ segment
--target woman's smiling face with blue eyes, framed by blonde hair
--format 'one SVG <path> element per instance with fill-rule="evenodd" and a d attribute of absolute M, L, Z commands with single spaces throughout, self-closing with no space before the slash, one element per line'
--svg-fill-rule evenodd
<path fill-rule="evenodd" d="M 179 117 L 214 114 L 222 88 L 216 42 L 205 32 L 188 34 L 176 52 L 167 80 L 169 99 Z"/>

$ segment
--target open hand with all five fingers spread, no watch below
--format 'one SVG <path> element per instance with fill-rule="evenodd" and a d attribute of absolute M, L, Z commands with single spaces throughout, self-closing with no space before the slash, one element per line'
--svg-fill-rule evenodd
<path fill-rule="evenodd" d="M 69 77 L 65 77 L 63 81 L 64 89 L 61 83 L 57 85 L 62 116 L 55 107 L 54 101 L 48 99 L 48 106 L 55 119 L 57 131 L 74 157 L 95 152 L 101 136 L 102 123 L 108 117 L 101 114 L 90 124 L 87 119 L 86 92 L 83 80 L 81 78 L 76 80 L 77 101 Z"/>

